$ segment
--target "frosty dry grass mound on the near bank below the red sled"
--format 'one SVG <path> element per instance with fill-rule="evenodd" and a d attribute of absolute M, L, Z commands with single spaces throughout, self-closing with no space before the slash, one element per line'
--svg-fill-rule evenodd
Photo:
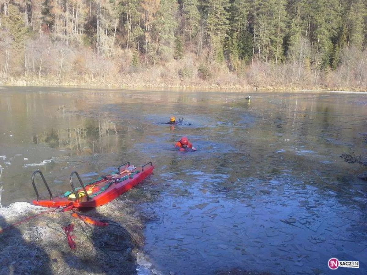
<path fill-rule="evenodd" d="M 25 202 L 0 209 L 0 226 L 44 212 Z M 143 245 L 141 218 L 126 202 L 115 200 L 88 216 L 109 220 L 108 227 L 86 224 L 70 212 L 51 212 L 0 234 L 0 274 L 136 274 L 136 253 Z M 112 221 L 113 220 L 113 221 Z M 73 223 L 76 249 L 62 227 Z"/>

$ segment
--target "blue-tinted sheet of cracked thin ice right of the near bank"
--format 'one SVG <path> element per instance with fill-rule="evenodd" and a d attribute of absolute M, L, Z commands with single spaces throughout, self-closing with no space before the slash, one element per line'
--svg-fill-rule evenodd
<path fill-rule="evenodd" d="M 213 274 L 237 266 L 314 274 L 329 272 L 327 260 L 338 255 L 339 260 L 357 259 L 362 267 L 366 214 L 355 206 L 342 206 L 327 192 L 316 194 L 289 177 L 268 182 L 270 194 L 261 192 L 265 182 L 243 184 L 247 194 L 255 194 L 252 205 L 247 199 L 222 198 L 215 190 L 166 197 L 155 209 L 159 220 L 146 230 L 146 252 L 178 274 Z M 280 186 L 284 191 L 278 191 Z M 333 274 L 338 272 L 343 270 Z"/>

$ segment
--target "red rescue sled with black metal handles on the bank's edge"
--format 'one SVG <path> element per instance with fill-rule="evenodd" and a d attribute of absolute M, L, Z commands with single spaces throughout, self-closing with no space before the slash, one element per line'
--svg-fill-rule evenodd
<path fill-rule="evenodd" d="M 146 167 L 150 165 L 149 167 Z M 120 165 L 116 174 L 100 177 L 98 180 L 88 183 L 86 185 L 80 179 L 77 172 L 70 174 L 70 185 L 72 191 L 68 191 L 58 197 L 53 197 L 50 188 L 40 170 L 36 170 L 32 174 L 32 185 L 36 192 L 37 200 L 33 201 L 34 205 L 46 207 L 66 207 L 72 208 L 93 208 L 104 205 L 113 199 L 116 199 L 124 192 L 130 190 L 132 187 L 143 181 L 146 177 L 153 173 L 154 166 L 152 162 L 141 166 L 138 170 L 135 166 L 130 166 L 130 162 Z M 34 183 L 34 176 L 39 173 L 42 180 L 50 194 L 50 199 L 40 200 L 36 184 Z M 75 188 L 73 184 L 73 175 L 76 174 L 81 187 Z"/>

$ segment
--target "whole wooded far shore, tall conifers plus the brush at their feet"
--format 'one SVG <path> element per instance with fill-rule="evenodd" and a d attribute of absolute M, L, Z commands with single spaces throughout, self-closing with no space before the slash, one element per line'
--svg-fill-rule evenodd
<path fill-rule="evenodd" d="M 365 0 L 0 0 L 0 83 L 367 89 Z"/>

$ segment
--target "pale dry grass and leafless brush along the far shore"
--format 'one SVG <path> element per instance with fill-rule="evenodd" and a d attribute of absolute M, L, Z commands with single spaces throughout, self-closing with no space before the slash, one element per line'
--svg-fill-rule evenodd
<path fill-rule="evenodd" d="M 226 62 L 208 60 L 209 49 L 199 55 L 190 47 L 182 60 L 149 61 L 131 49 L 98 55 L 90 47 L 53 44 L 47 36 L 29 40 L 26 54 L 10 50 L 10 63 L 0 75 L 0 84 L 12 85 L 103 85 L 114 87 L 185 87 L 239 89 L 328 89 L 366 91 L 367 53 L 345 49 L 337 69 L 321 69 L 308 59 L 275 65 L 255 60 Z M 4 54 L 0 56 L 3 56 Z M 24 60 L 23 60 L 24 59 Z M 5 59 L 0 58 L 0 69 Z M 232 67 L 231 67 L 232 68 Z M 233 69 L 233 68 L 232 68 Z M 0 70 L 0 73 L 2 71 Z"/>

